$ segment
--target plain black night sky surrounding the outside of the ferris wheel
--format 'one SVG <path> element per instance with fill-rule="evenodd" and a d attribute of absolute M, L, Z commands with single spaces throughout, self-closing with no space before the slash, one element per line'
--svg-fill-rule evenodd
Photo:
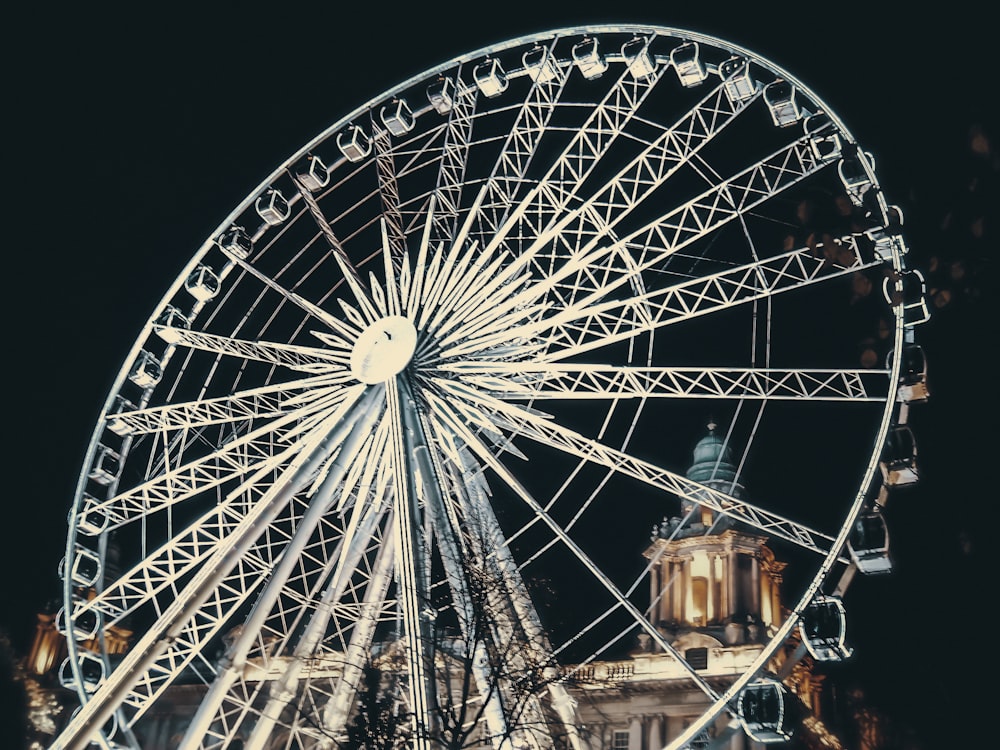
<path fill-rule="evenodd" d="M 997 158 L 994 26 L 964 0 L 925 15 L 914 4 L 876 11 L 853 0 L 803 4 L 806 12 L 787 2 L 686 10 L 520 1 L 353 2 L 343 11 L 348 3 L 286 0 L 267 11 L 233 4 L 223 16 L 206 15 L 205 5 L 52 5 L 5 22 L 5 54 L 14 54 L 4 66 L 0 629 L 18 649 L 29 643 L 33 613 L 60 594 L 56 567 L 79 465 L 154 305 L 277 164 L 411 75 L 490 43 L 584 23 L 658 24 L 747 47 L 817 92 L 874 153 L 924 269 L 932 257 L 972 252 L 939 228 L 975 167 L 972 123 L 992 124 Z M 995 223 L 987 237 L 996 252 Z M 925 749 L 978 739 L 985 698 L 977 695 L 988 682 L 973 680 L 993 648 L 985 602 L 996 591 L 995 266 L 989 255 L 965 259 L 982 269 L 978 302 L 956 295 L 920 332 L 932 401 L 912 419 L 924 481 L 889 513 L 897 571 L 852 586 L 857 656 L 832 677 L 862 685 Z"/>

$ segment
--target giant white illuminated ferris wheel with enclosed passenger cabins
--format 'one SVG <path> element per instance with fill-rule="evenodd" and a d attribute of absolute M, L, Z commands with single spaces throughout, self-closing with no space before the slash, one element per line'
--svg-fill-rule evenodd
<path fill-rule="evenodd" d="M 179 684 L 182 747 L 333 747 L 375 658 L 429 747 L 465 649 L 483 736 L 582 748 L 560 677 L 636 633 L 705 694 L 671 747 L 737 716 L 845 571 L 891 567 L 926 395 L 901 223 L 814 93 L 700 34 L 537 34 L 373 98 L 221 222 L 126 357 L 69 515 L 81 708 L 54 747 L 137 747 Z M 752 499 L 683 473 L 709 415 Z M 630 550 L 679 502 L 805 571 L 724 688 L 637 595 Z"/>

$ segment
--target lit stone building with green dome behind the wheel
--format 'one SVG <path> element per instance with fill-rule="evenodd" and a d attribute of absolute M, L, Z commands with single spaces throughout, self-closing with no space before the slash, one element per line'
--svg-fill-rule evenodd
<path fill-rule="evenodd" d="M 709 423 L 693 459 L 689 479 L 748 499 L 716 424 Z M 649 561 L 650 622 L 702 679 L 724 691 L 757 658 L 786 615 L 781 601 L 785 563 L 775 559 L 767 537 L 757 530 L 687 499 L 681 516 L 664 518 L 653 528 L 643 554 Z M 795 645 L 770 665 L 773 672 Z M 628 659 L 595 662 L 584 677 L 576 694 L 594 750 L 660 748 L 708 707 L 677 658 L 646 634 L 638 636 Z M 820 718 L 822 682 L 808 657 L 797 661 L 786 680 L 792 686 L 790 700 L 805 714 L 805 731 L 791 746 L 841 747 Z M 725 716 L 701 742 L 728 750 L 762 746 L 734 731 Z"/>

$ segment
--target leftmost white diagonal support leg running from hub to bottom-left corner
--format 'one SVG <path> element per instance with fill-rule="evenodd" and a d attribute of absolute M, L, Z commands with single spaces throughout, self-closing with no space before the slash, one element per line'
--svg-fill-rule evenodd
<path fill-rule="evenodd" d="M 361 402 L 367 403 L 368 399 L 362 398 Z M 316 475 L 329 452 L 342 443 L 354 443 L 364 438 L 367 433 L 356 429 L 359 420 L 365 415 L 365 410 L 358 406 L 356 403 L 349 409 L 330 432 L 318 441 L 312 454 L 292 470 L 288 480 L 266 500 L 257 513 L 243 519 L 237 531 L 227 539 L 226 546 L 209 558 L 202 569 L 203 573 L 185 587 L 149 632 L 125 656 L 119 668 L 98 688 L 91 700 L 81 707 L 76 717 L 56 738 L 51 750 L 84 750 L 91 737 L 100 730 L 129 691 L 170 647 L 187 622 L 211 596 L 219 581 L 249 551 L 281 509 Z"/>

